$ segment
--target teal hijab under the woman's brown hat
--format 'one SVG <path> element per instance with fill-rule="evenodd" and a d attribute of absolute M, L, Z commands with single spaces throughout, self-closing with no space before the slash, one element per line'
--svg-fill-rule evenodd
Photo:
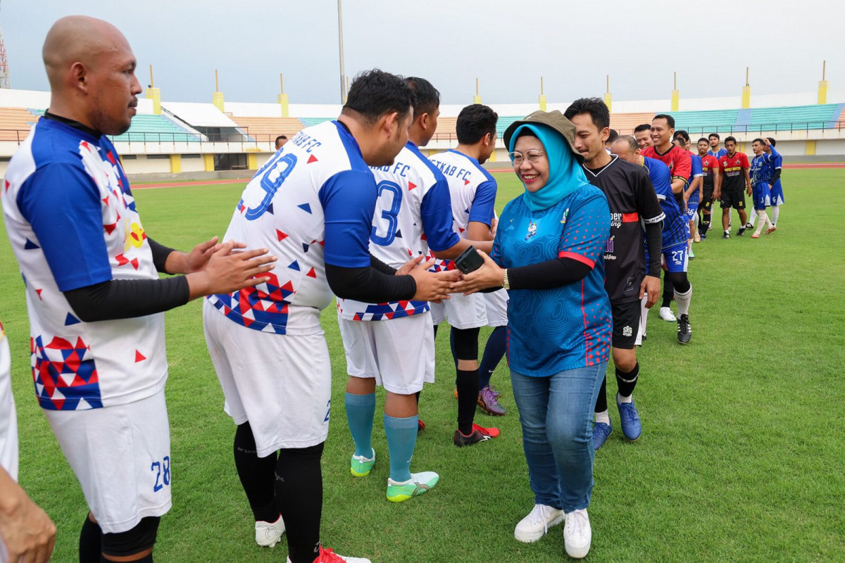
<path fill-rule="evenodd" d="M 520 136 L 523 129 L 528 129 L 534 136 L 540 139 L 542 147 L 548 158 L 548 181 L 537 192 L 529 192 L 527 189 L 522 194 L 522 200 L 532 211 L 542 211 L 557 203 L 560 203 L 570 193 L 588 185 L 581 165 L 572 154 L 569 143 L 563 135 L 552 127 L 542 123 L 532 123 L 516 127 L 510 136 L 508 152 L 513 152 L 516 145 L 516 138 Z"/>

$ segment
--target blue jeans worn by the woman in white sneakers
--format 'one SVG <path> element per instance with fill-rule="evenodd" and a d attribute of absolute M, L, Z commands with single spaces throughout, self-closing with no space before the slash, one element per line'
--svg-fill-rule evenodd
<path fill-rule="evenodd" d="M 510 372 L 536 504 L 572 512 L 590 506 L 592 411 L 608 363 L 553 376 Z"/>

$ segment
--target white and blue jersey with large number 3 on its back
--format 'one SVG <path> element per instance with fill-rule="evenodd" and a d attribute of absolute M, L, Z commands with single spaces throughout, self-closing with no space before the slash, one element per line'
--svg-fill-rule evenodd
<path fill-rule="evenodd" d="M 400 268 L 413 257 L 428 256 L 429 248 L 442 251 L 458 243 L 458 235 L 452 230 L 449 185 L 416 146 L 407 143 L 392 165 L 372 171 L 378 183 L 369 234 L 369 252 L 374 257 Z M 347 321 L 390 320 L 428 310 L 428 301 L 337 300 L 337 311 Z"/>

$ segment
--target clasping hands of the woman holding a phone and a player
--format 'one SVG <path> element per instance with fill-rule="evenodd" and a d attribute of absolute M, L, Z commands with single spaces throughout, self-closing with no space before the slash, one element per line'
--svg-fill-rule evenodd
<path fill-rule="evenodd" d="M 440 302 L 449 299 L 451 293 L 470 295 L 487 288 L 502 287 L 504 269 L 484 252 L 470 246 L 461 256 L 455 258 L 455 269 L 444 272 L 429 272 L 434 261 L 423 262 L 418 256 L 396 270 L 396 275 L 410 275 L 417 283 L 417 292 L 412 299 Z"/>

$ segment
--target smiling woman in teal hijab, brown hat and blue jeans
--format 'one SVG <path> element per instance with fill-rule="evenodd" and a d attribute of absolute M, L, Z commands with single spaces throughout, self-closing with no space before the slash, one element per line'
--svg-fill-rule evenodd
<path fill-rule="evenodd" d="M 564 523 L 567 555 L 591 544 L 592 409 L 610 352 L 604 257 L 607 199 L 586 180 L 575 126 L 535 111 L 504 133 L 525 192 L 504 207 L 493 252 L 455 290 L 509 290 L 508 362 L 520 411 L 533 510 L 515 538 L 534 542 Z"/>

